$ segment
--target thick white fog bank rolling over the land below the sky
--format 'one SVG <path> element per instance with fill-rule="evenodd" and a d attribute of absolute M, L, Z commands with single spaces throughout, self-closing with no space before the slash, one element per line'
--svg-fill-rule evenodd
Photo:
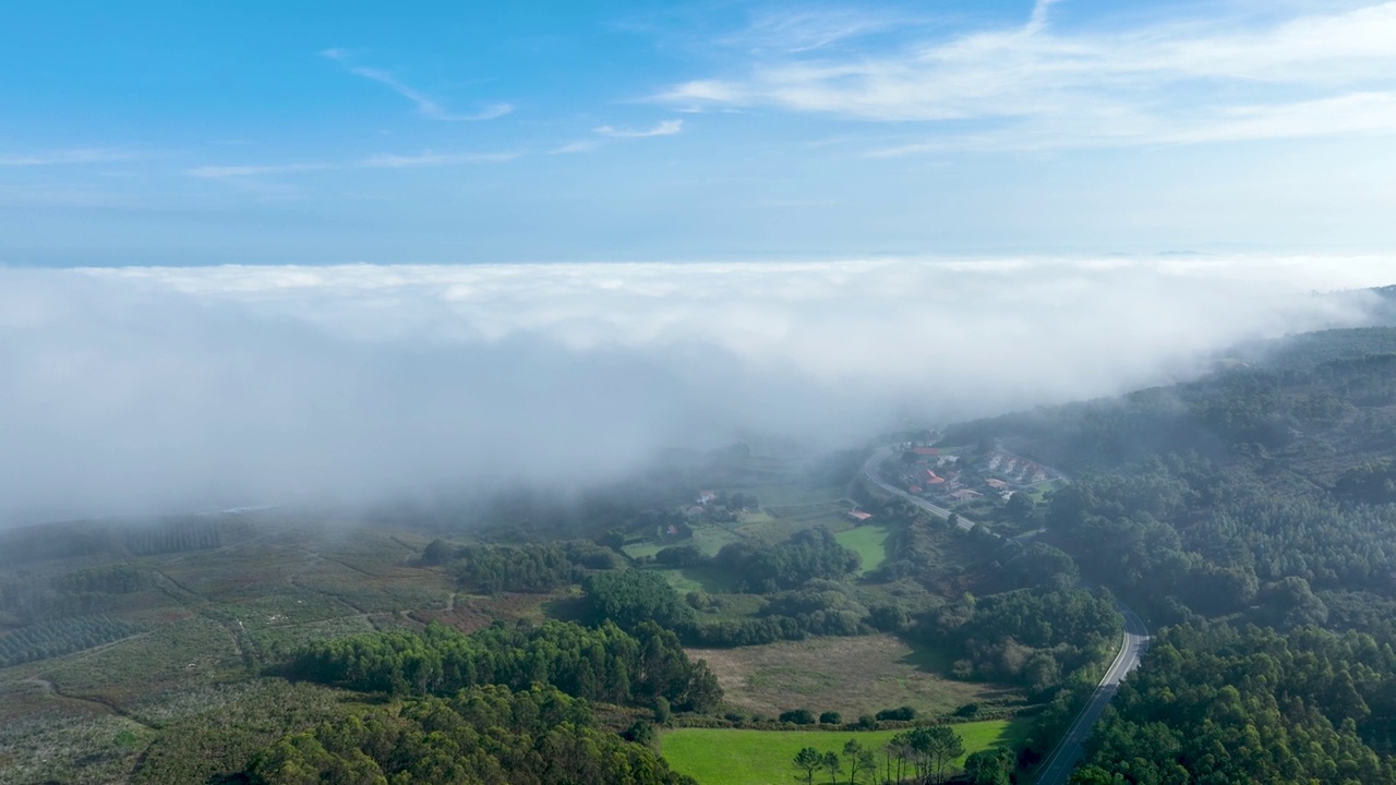
<path fill-rule="evenodd" d="M 1368 320 L 1376 260 L 0 270 L 0 522 L 861 443 Z"/>

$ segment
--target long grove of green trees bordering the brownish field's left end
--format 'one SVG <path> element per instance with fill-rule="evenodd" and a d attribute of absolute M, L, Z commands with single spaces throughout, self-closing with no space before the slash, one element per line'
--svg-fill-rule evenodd
<path fill-rule="evenodd" d="M 610 622 L 584 627 L 496 623 L 472 634 L 433 623 L 423 633 L 371 633 L 303 647 L 292 676 L 362 691 L 452 694 L 477 684 L 515 690 L 553 684 L 567 694 L 617 704 L 658 698 L 684 711 L 709 711 L 722 687 L 691 662 L 673 631 L 653 622 L 634 634 Z"/>

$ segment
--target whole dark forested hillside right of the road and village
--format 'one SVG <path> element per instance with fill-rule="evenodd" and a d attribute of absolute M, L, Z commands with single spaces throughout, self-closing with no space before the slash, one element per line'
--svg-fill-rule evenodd
<path fill-rule="evenodd" d="M 1392 328 L 1325 331 L 1198 381 L 948 430 L 1074 472 L 1044 536 L 1182 624 L 1079 781 L 1392 781 Z"/>

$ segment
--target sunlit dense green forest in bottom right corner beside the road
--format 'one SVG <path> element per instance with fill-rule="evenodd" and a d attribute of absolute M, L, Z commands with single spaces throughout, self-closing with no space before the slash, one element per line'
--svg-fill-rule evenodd
<path fill-rule="evenodd" d="M 1396 782 L 1396 655 L 1361 633 L 1168 627 L 1075 782 Z"/>

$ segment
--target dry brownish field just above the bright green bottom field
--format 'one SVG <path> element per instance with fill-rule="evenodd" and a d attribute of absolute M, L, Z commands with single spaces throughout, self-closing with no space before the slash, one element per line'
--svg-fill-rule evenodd
<path fill-rule="evenodd" d="M 934 652 L 913 650 L 892 636 L 811 638 L 688 654 L 708 661 L 729 704 L 765 717 L 808 708 L 856 719 L 900 705 L 910 705 L 924 717 L 945 717 L 972 703 L 988 710 L 1023 701 L 1012 687 L 949 679 Z"/>

